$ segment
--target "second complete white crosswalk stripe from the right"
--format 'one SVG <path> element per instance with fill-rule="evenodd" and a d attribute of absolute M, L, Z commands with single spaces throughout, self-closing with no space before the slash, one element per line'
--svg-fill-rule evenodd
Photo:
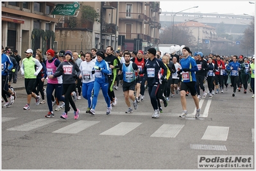
<path fill-rule="evenodd" d="M 151 134 L 151 137 L 175 138 L 185 125 L 180 124 L 163 124 L 161 127 Z"/>

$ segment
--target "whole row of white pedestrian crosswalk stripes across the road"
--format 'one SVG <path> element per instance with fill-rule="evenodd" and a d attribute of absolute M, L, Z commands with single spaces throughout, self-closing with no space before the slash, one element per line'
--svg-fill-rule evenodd
<path fill-rule="evenodd" d="M 12 122 L 15 119 L 13 117 L 2 117 L 2 124 L 4 122 Z M 64 133 L 64 134 L 78 134 L 81 131 L 86 131 L 87 128 L 92 126 L 97 126 L 99 122 L 97 120 L 78 120 L 77 122 L 73 122 L 70 124 L 53 124 L 54 122 L 60 119 L 57 118 L 39 118 L 37 120 L 33 120 L 31 122 L 26 122 L 24 124 L 9 127 L 6 131 L 32 131 L 35 129 L 40 129 L 42 127 L 56 127 L 56 130 L 52 133 Z M 126 136 L 135 129 L 142 126 L 142 122 L 119 122 L 115 124 L 115 126 L 105 127 L 105 131 L 99 133 L 99 135 L 107 135 L 107 136 Z M 150 137 L 156 138 L 176 138 L 178 134 L 184 134 L 185 131 L 182 131 L 186 127 L 184 124 L 162 124 L 161 126 L 155 127 L 155 132 L 150 135 Z M 230 127 L 225 126 L 207 126 L 204 131 L 203 136 L 201 136 L 201 140 L 213 140 L 213 141 L 227 141 L 228 140 L 228 132 Z M 139 129 L 142 131 L 142 129 Z M 254 128 L 252 128 L 252 143 L 254 143 Z"/>

